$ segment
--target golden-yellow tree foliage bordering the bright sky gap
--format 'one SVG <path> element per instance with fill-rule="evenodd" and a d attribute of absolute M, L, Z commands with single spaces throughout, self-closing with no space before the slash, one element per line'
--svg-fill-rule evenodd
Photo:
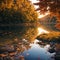
<path fill-rule="evenodd" d="M 18 6 L 18 8 L 20 9 L 20 11 L 22 13 L 24 13 L 24 18 L 22 19 L 26 19 L 27 22 L 35 22 L 38 20 L 38 15 L 34 9 L 34 6 L 31 5 L 31 3 L 28 0 L 17 0 L 16 4 Z M 26 22 L 26 21 L 25 21 Z"/>

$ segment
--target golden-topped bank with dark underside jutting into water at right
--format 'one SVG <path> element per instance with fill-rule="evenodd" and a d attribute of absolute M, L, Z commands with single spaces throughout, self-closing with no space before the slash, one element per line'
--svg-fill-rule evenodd
<path fill-rule="evenodd" d="M 51 32 L 49 34 L 41 34 L 37 37 L 38 40 L 44 42 L 56 42 L 60 43 L 60 32 Z"/>

